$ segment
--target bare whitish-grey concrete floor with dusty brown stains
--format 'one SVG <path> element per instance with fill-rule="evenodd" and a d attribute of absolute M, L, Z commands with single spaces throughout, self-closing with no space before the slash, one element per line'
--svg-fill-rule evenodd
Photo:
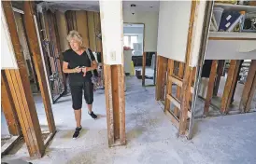
<path fill-rule="evenodd" d="M 154 100 L 154 88 L 128 77 L 126 91 L 127 145 L 108 148 L 105 95 L 94 96 L 92 120 L 83 107 L 83 132 L 72 140 L 75 126 L 70 96 L 53 105 L 58 132 L 41 159 L 30 159 L 23 146 L 16 155 L 34 164 L 247 164 L 256 163 L 256 113 L 196 119 L 192 141 L 177 138 L 177 129 Z M 41 122 L 41 121 L 40 121 Z"/>

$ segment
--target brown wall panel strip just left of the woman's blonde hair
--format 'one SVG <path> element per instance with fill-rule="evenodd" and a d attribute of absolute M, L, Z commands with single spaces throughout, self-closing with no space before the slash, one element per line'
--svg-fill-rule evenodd
<path fill-rule="evenodd" d="M 68 32 L 66 28 L 64 13 L 60 11 L 56 11 L 56 20 L 57 20 L 58 32 L 60 36 L 61 51 L 64 52 L 66 49 L 69 48 L 68 42 L 65 39 Z"/>

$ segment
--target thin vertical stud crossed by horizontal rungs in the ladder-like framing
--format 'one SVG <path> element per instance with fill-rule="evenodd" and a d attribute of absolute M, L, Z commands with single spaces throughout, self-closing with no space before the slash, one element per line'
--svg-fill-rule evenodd
<path fill-rule="evenodd" d="M 174 71 L 174 61 L 168 60 L 168 71 L 167 71 L 168 77 L 173 75 L 173 71 Z M 169 99 L 167 99 L 167 97 L 170 95 L 172 95 L 172 79 L 167 78 L 164 112 L 170 110 L 171 101 Z"/>

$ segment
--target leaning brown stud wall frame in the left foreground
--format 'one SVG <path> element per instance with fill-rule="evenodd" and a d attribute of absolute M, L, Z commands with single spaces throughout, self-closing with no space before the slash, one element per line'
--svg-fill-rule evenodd
<path fill-rule="evenodd" d="M 45 105 L 49 129 L 51 132 L 49 138 L 51 139 L 56 132 L 56 127 L 51 111 L 50 97 L 46 86 L 46 78 L 43 72 L 44 69 L 40 59 L 41 56 L 38 46 L 38 38 L 36 35 L 36 24 L 34 22 L 34 3 L 31 1 L 26 1 L 23 3 L 23 5 L 26 25 L 25 29 L 26 31 L 30 32 L 28 33 L 28 42 L 33 55 L 33 59 L 35 61 L 36 74 L 39 80 L 39 86 Z M 14 109 L 19 118 L 22 135 L 24 137 L 30 156 L 42 157 L 49 142 L 44 144 L 42 139 L 42 132 L 36 114 L 36 105 L 32 95 L 32 90 L 30 89 L 30 81 L 25 66 L 25 59 L 21 51 L 21 44 L 17 33 L 17 27 L 11 2 L 2 1 L 2 7 L 7 18 L 8 31 L 19 67 L 17 70 L 9 69 L 2 71 L 2 79 L 4 78 L 7 81 L 7 83 L 4 83 L 6 84 L 6 88 L 8 88 L 7 95 L 10 95 L 12 100 L 15 100 L 13 101 Z M 15 121 L 18 122 L 17 119 Z"/>

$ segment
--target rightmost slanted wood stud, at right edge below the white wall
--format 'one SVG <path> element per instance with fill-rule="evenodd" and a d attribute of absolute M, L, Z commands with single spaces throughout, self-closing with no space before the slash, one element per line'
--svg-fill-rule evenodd
<path fill-rule="evenodd" d="M 249 73 L 247 76 L 247 81 L 245 83 L 239 109 L 242 113 L 249 112 L 249 106 L 251 99 L 253 97 L 255 91 L 255 83 L 256 83 L 256 60 L 252 60 L 249 65 Z"/>

